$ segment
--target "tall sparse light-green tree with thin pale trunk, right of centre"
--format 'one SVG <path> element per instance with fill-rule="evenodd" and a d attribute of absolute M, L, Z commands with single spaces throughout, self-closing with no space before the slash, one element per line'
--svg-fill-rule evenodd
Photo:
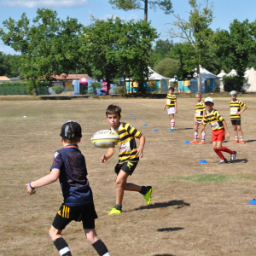
<path fill-rule="evenodd" d="M 178 28 L 178 32 L 170 30 L 171 38 L 182 38 L 187 44 L 183 54 L 183 69 L 191 73 L 197 71 L 198 90 L 201 91 L 201 77 L 199 66 L 206 67 L 214 58 L 213 31 L 209 27 L 212 23 L 212 5 L 204 0 L 205 7 L 196 0 L 189 0 L 192 10 L 189 12 L 189 21 L 183 20 L 180 15 L 174 15 L 177 21 L 171 23 Z M 184 48 L 183 48 L 184 49 Z"/>

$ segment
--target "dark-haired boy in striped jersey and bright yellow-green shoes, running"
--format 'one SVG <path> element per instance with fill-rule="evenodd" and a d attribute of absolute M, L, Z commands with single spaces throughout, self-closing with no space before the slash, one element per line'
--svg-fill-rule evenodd
<path fill-rule="evenodd" d="M 111 125 L 111 130 L 119 134 L 119 163 L 114 167 L 114 172 L 117 174 L 115 180 L 116 204 L 108 215 L 120 214 L 122 212 L 122 202 L 124 191 L 137 191 L 141 193 L 147 205 L 151 201 L 152 187 L 138 186 L 133 183 L 127 183 L 127 178 L 134 172 L 140 157 L 143 157 L 143 148 L 145 137 L 140 131 L 137 131 L 132 125 L 120 122 L 121 108 L 115 105 L 109 105 L 106 110 L 107 120 Z M 135 138 L 140 140 L 140 146 L 137 148 Z M 114 148 L 108 148 L 107 154 L 103 154 L 101 158 L 102 164 L 105 164 L 112 157 Z"/>

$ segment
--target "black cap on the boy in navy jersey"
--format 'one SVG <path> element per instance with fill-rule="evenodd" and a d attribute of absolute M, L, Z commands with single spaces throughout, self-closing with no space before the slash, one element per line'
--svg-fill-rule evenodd
<path fill-rule="evenodd" d="M 61 127 L 61 137 L 69 142 L 78 141 L 82 137 L 82 128 L 75 121 L 67 121 Z"/>

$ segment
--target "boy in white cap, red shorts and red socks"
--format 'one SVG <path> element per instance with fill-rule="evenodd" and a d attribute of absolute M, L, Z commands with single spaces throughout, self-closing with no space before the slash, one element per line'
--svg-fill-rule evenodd
<path fill-rule="evenodd" d="M 201 126 L 201 131 L 198 135 L 198 137 L 201 137 L 201 133 L 205 131 L 205 127 L 207 123 L 210 123 L 212 125 L 212 146 L 213 150 L 216 154 L 220 157 L 219 164 L 227 163 L 228 161 L 224 158 L 221 151 L 224 151 L 226 153 L 230 154 L 230 163 L 233 163 L 236 159 L 236 151 L 232 151 L 229 148 L 222 147 L 222 142 L 225 139 L 225 132 L 226 137 L 230 138 L 230 133 L 228 131 L 228 126 L 223 119 L 223 117 L 218 113 L 216 109 L 213 109 L 213 99 L 211 97 L 207 97 L 205 99 L 205 104 L 207 108 L 207 115 L 205 117 L 205 120 L 203 122 L 203 125 Z"/>

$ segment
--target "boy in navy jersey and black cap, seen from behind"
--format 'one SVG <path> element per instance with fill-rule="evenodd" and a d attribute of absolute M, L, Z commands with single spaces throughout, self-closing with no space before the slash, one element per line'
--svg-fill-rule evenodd
<path fill-rule="evenodd" d="M 62 238 L 61 232 L 72 220 L 83 222 L 85 236 L 100 256 L 110 256 L 108 248 L 99 240 L 95 230 L 97 214 L 94 208 L 92 191 L 87 179 L 87 169 L 84 155 L 79 150 L 81 141 L 81 126 L 74 121 L 67 121 L 61 127 L 61 143 L 63 147 L 55 151 L 53 164 L 49 175 L 26 183 L 29 195 L 36 193 L 36 188 L 54 183 L 58 178 L 64 202 L 57 212 L 49 236 L 61 256 L 70 256 L 71 252 L 67 242 Z"/>

